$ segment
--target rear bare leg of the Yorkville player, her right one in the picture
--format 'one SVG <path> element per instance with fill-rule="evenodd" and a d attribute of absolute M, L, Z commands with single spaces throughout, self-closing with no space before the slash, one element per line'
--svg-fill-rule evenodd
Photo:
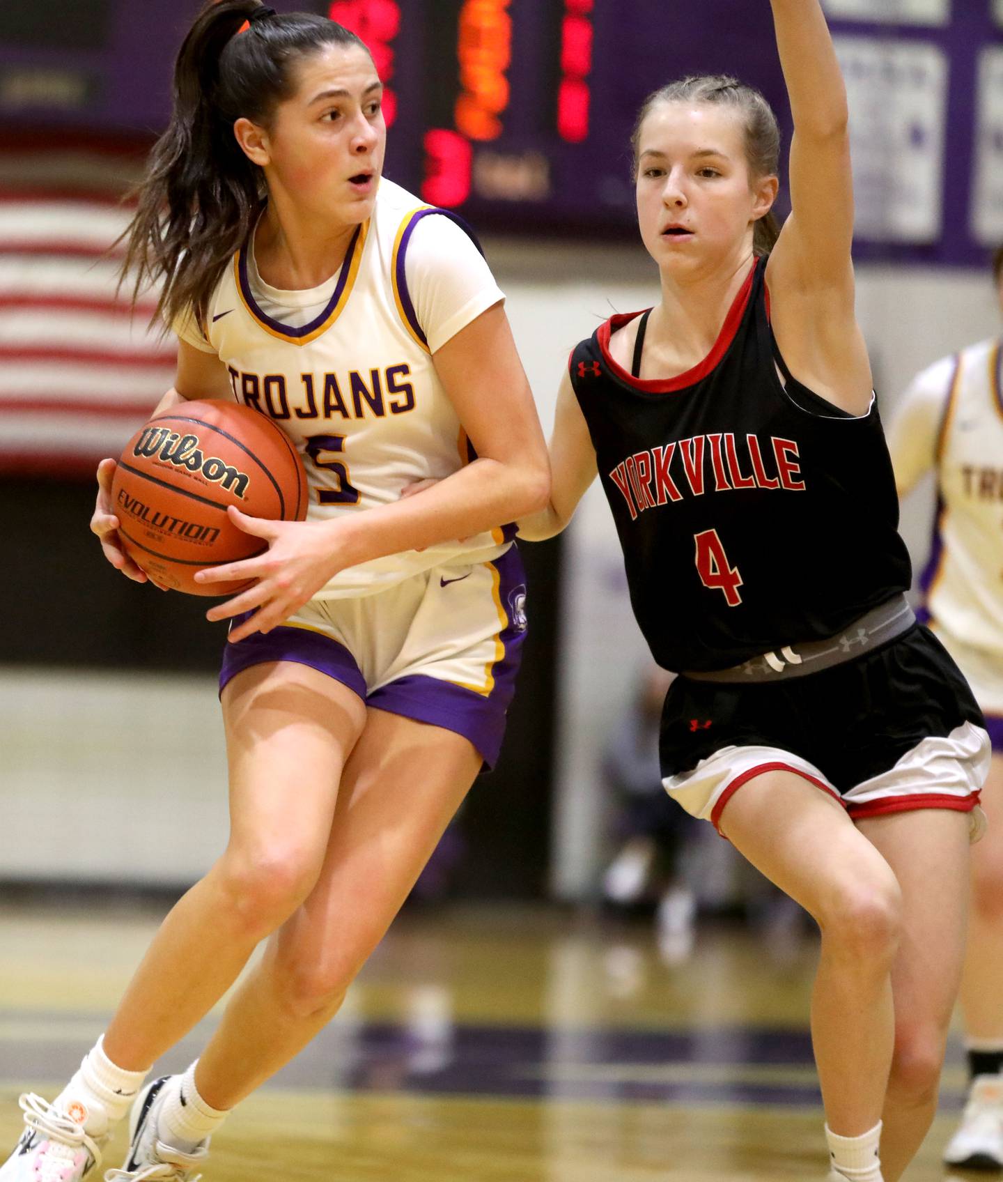
<path fill-rule="evenodd" d="M 968 813 L 926 808 L 858 823 L 903 892 L 903 937 L 892 966 L 895 1044 L 882 1112 L 885 1182 L 901 1177 L 937 1108 L 964 957 L 969 820 Z"/>

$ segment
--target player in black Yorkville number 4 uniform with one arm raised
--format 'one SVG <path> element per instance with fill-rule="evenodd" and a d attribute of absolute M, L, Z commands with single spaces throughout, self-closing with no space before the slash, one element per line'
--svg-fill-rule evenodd
<path fill-rule="evenodd" d="M 819 0 L 771 8 L 793 213 L 777 236 L 762 96 L 724 77 L 651 96 L 634 160 L 662 298 L 572 353 L 552 502 L 520 532 L 561 530 L 598 472 L 638 623 L 680 674 L 666 790 L 819 922 L 829 1177 L 894 1182 L 933 1116 L 989 742 L 903 597 L 829 33 Z"/>

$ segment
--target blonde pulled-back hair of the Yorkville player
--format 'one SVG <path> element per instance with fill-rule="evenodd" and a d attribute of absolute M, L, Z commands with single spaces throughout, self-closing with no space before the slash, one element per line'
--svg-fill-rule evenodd
<path fill-rule="evenodd" d="M 780 126 L 773 109 L 763 96 L 731 74 L 691 74 L 669 83 L 649 95 L 634 124 L 631 143 L 637 175 L 640 129 L 644 121 L 659 103 L 710 103 L 731 106 L 742 117 L 745 131 L 745 160 L 753 180 L 776 176 L 780 171 Z M 756 254 L 769 254 L 780 238 L 780 220 L 773 212 L 756 222 L 753 249 Z"/>

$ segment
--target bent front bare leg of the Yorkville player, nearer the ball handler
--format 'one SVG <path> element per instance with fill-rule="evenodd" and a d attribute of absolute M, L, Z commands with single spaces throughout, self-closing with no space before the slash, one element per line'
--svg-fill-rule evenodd
<path fill-rule="evenodd" d="M 880 1178 L 877 1129 L 892 1061 L 891 967 L 901 913 L 895 876 L 842 805 L 792 773 L 743 785 L 721 827 L 821 929 L 812 1043 L 826 1122 L 839 1138 L 873 1141 L 866 1176 Z"/>

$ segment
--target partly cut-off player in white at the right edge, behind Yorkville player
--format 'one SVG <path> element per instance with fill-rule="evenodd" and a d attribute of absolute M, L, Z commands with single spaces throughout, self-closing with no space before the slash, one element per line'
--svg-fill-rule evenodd
<path fill-rule="evenodd" d="M 1003 309 L 1003 247 L 992 260 Z M 985 713 L 989 826 L 972 851 L 962 1009 L 970 1073 L 950 1165 L 1003 1169 L 1003 344 L 983 340 L 924 370 L 888 430 L 899 494 L 937 481 L 923 613 Z"/>

